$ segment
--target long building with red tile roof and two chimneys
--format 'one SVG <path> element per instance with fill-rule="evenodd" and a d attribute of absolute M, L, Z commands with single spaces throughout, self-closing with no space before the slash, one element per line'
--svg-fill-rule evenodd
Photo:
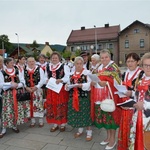
<path fill-rule="evenodd" d="M 118 34 L 120 25 L 96 27 L 80 30 L 72 30 L 67 39 L 67 50 L 75 52 L 76 50 L 86 51 L 90 55 L 99 53 L 102 49 L 109 49 L 112 53 L 112 59 L 118 63 Z"/>

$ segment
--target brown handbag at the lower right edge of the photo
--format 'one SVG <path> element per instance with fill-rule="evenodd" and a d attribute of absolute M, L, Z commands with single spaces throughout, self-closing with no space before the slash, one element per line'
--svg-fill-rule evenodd
<path fill-rule="evenodd" d="M 150 126 L 150 121 L 148 122 L 143 133 L 144 147 L 146 148 L 146 150 L 150 150 L 150 131 L 148 131 L 149 126 Z"/>

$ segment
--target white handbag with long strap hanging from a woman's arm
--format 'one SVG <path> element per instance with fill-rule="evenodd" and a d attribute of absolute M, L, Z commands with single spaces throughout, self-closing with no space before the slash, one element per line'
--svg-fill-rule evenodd
<path fill-rule="evenodd" d="M 112 91 L 111 91 L 111 88 L 110 88 L 110 85 L 109 85 L 108 82 L 107 82 L 107 86 L 108 86 L 108 90 L 110 92 L 110 95 L 111 95 L 112 99 L 111 98 L 106 98 L 105 100 L 103 100 L 100 104 L 100 108 L 105 112 L 113 112 L 116 109 L 116 106 L 115 106 Z"/>

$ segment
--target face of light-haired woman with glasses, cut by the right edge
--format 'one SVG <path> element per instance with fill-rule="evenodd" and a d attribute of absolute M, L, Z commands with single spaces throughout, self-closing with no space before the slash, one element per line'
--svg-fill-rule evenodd
<path fill-rule="evenodd" d="M 144 59 L 142 64 L 145 75 L 150 77 L 150 59 Z"/>

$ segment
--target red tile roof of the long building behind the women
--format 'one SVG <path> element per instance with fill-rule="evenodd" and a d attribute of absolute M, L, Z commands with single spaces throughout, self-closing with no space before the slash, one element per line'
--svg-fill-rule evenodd
<path fill-rule="evenodd" d="M 116 39 L 120 32 L 120 25 L 109 26 L 109 27 L 97 27 L 96 34 L 97 40 L 109 40 Z M 95 28 L 83 29 L 83 30 L 72 30 L 67 40 L 68 43 L 75 42 L 90 42 L 95 40 Z"/>

